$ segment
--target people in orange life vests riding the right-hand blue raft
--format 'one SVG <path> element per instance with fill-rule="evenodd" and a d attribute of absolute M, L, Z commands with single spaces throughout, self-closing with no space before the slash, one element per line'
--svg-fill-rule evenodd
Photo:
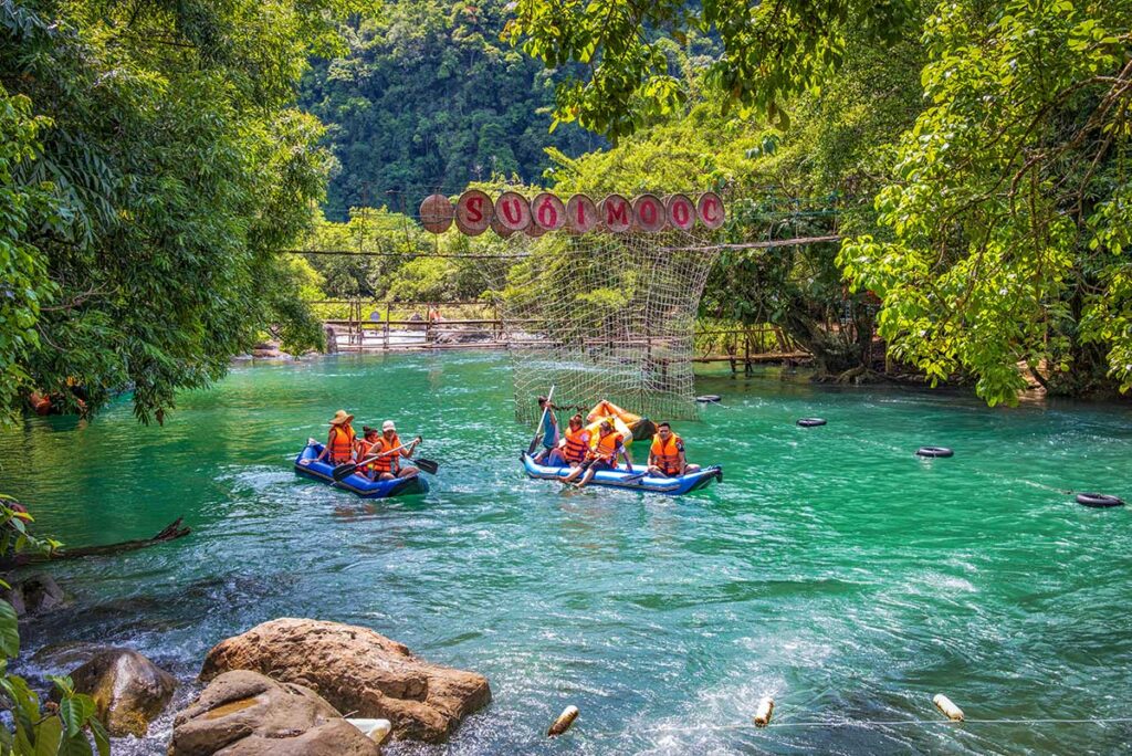
<path fill-rule="evenodd" d="M 633 472 L 633 459 L 625 448 L 625 433 L 617 429 L 617 423 L 620 421 L 627 430 L 629 423 L 635 424 L 642 418 L 602 400 L 585 419 L 581 414 L 573 415 L 566 431 L 559 432 L 555 414 L 555 410 L 559 407 L 540 396 L 539 409 L 543 411 L 540 430 L 542 449 L 534 455 L 534 461 L 551 467 L 572 467 L 563 478 L 564 483 L 582 488 L 593 480 L 599 470 L 617 470 L 618 458 L 625 461 L 628 472 Z M 597 432 L 590 430 L 599 419 Z M 590 427 L 586 427 L 586 421 L 591 423 Z M 684 440 L 672 432 L 672 426 L 668 422 L 657 423 L 657 432 L 649 447 L 649 464 L 642 474 L 679 478 L 697 470 L 700 465 L 689 464 L 685 458 Z"/>

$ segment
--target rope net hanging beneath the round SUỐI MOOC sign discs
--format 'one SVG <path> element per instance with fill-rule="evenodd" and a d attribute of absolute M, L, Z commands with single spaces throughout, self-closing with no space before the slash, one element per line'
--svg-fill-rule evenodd
<path fill-rule="evenodd" d="M 709 233 L 511 235 L 508 249 L 526 257 L 484 274 L 495 272 L 516 419 L 538 420 L 551 385 L 558 406 L 609 400 L 654 421 L 695 419 L 696 311 L 718 250 L 687 248 Z"/>

